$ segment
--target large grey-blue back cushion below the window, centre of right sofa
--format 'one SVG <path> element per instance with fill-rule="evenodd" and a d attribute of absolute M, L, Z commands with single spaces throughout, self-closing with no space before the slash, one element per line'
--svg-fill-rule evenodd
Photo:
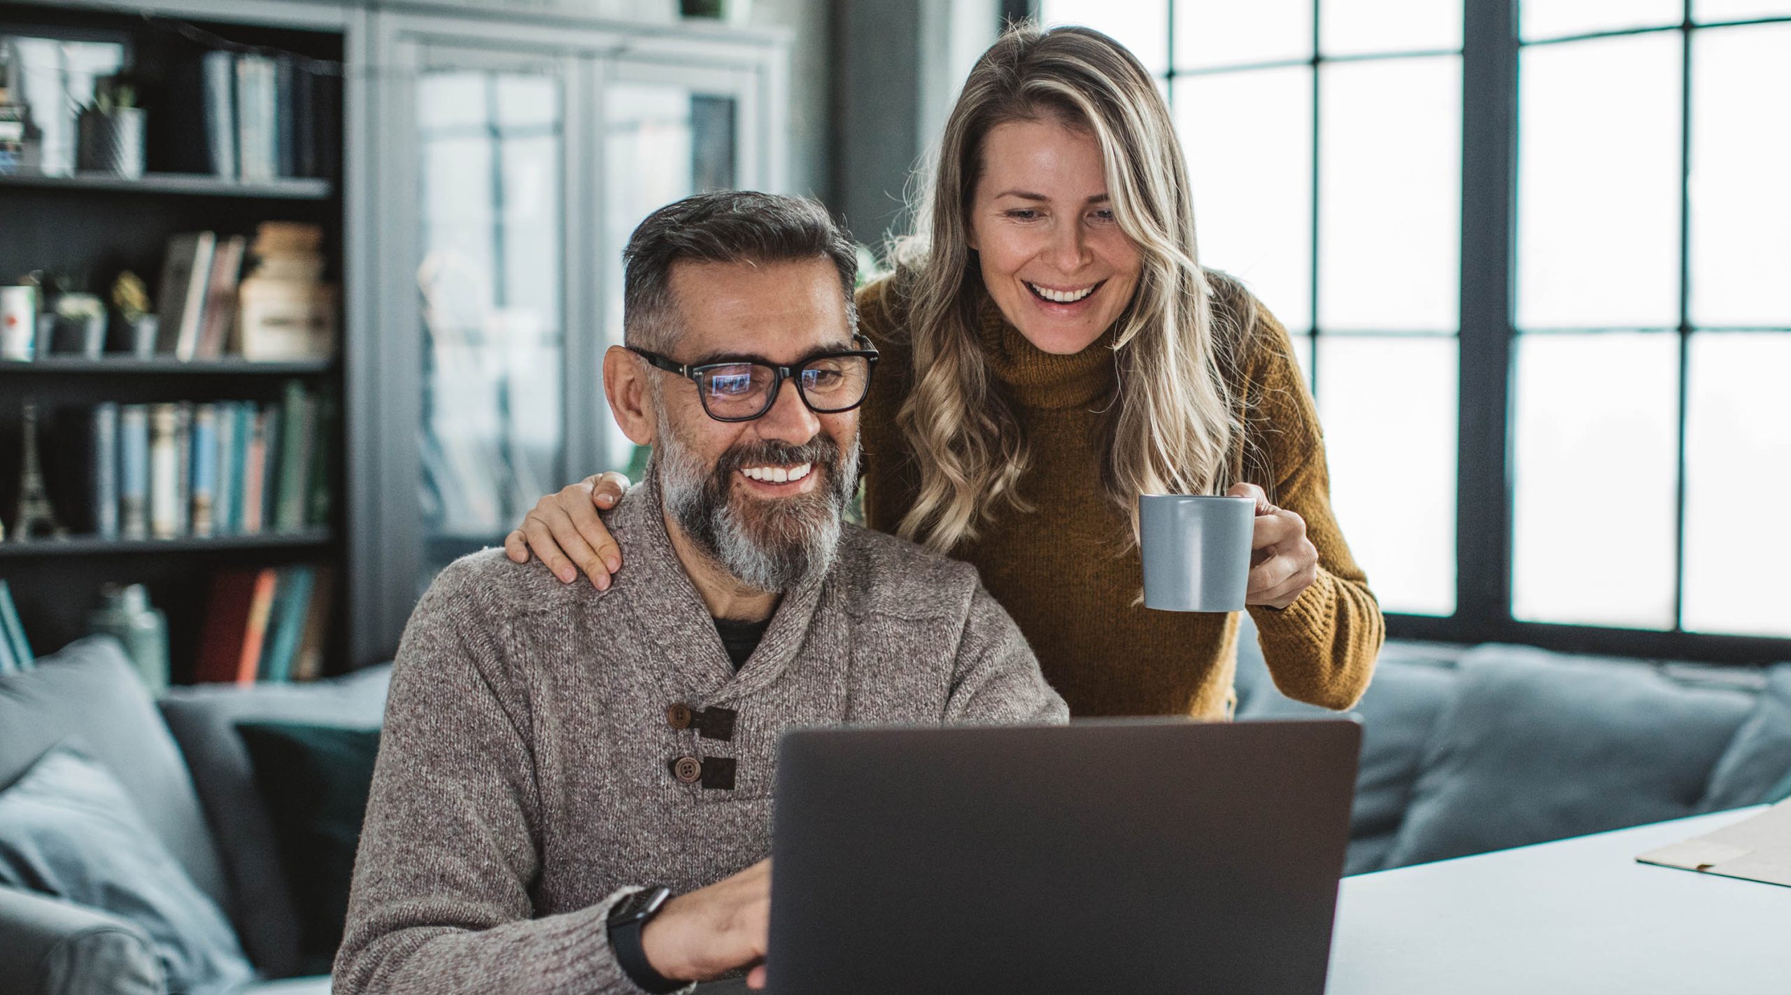
<path fill-rule="evenodd" d="M 1460 669 L 1388 866 L 1689 816 L 1755 697 L 1515 645 Z"/>

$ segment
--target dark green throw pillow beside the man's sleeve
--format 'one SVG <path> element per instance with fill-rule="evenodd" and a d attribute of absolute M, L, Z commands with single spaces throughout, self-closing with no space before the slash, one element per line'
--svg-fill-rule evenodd
<path fill-rule="evenodd" d="M 236 731 L 254 762 L 254 780 L 299 911 L 299 966 L 328 973 L 347 921 L 347 889 L 373 791 L 380 730 L 238 722 Z"/>

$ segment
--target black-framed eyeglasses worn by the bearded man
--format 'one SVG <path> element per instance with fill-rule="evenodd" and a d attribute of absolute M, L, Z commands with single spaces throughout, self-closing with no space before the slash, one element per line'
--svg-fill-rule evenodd
<path fill-rule="evenodd" d="M 716 421 L 752 421 L 777 403 L 784 380 L 795 380 L 795 393 L 817 414 L 838 414 L 865 403 L 870 393 L 870 371 L 878 368 L 878 350 L 870 339 L 853 335 L 861 350 L 827 350 L 777 366 L 763 359 L 738 359 L 686 366 L 670 357 L 636 350 L 629 351 L 666 373 L 688 376 L 697 384 L 702 411 Z"/>

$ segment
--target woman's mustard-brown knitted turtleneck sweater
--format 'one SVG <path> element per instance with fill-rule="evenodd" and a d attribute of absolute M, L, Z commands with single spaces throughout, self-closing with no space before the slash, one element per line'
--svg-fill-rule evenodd
<path fill-rule="evenodd" d="M 1218 289 L 1214 307 L 1252 303 L 1230 280 L 1218 280 Z M 861 330 L 883 353 L 861 418 L 865 518 L 894 532 L 919 489 L 913 454 L 896 423 L 913 382 L 908 328 L 890 280 L 860 290 L 858 308 Z M 1368 687 L 1381 611 L 1331 515 L 1318 416 L 1288 332 L 1266 308 L 1255 310 L 1232 382 L 1247 425 L 1232 479 L 1261 486 L 1306 520 L 1320 572 L 1288 608 L 1252 606 L 1250 615 L 1282 692 L 1347 708 Z M 992 301 L 980 314 L 989 368 L 1030 443 L 1019 493 L 1033 511 L 998 502 L 978 538 L 951 554 L 976 565 L 1071 714 L 1227 717 L 1236 620 L 1137 604 L 1143 567 L 1128 541 L 1130 522 L 1101 493 L 1096 412 L 1114 389 L 1110 342 L 1051 355 L 1033 348 Z"/>

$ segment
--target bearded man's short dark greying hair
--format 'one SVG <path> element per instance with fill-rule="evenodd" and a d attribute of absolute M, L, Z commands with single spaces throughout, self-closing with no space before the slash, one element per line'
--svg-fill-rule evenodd
<path fill-rule="evenodd" d="M 647 215 L 621 251 L 623 342 L 666 351 L 681 332 L 672 299 L 675 262 L 795 262 L 824 258 L 840 271 L 849 328 L 858 332 L 853 290 L 858 253 L 827 208 L 808 197 L 713 190 Z"/>

